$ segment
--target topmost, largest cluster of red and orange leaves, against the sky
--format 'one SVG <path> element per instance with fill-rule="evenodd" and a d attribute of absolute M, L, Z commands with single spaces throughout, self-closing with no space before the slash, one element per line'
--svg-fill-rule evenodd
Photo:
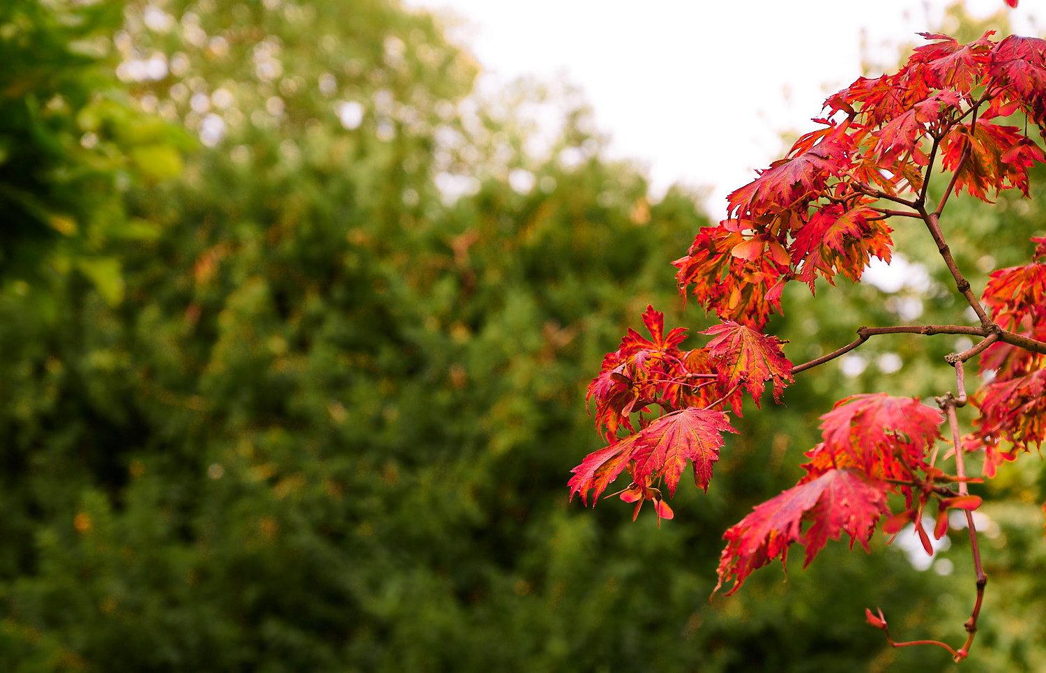
<path fill-rule="evenodd" d="M 1046 155 L 994 119 L 1020 111 L 1046 122 L 1046 41 L 924 35 L 932 43 L 901 71 L 831 96 L 828 115 L 815 119 L 823 128 L 727 197 L 728 219 L 674 263 L 681 291 L 721 319 L 761 329 L 780 312 L 786 282 L 813 291 L 817 276 L 857 281 L 871 257 L 890 260 L 888 214 L 877 203 L 918 195 L 936 156 L 958 172 L 956 190 L 1027 196 L 1028 169 Z"/>

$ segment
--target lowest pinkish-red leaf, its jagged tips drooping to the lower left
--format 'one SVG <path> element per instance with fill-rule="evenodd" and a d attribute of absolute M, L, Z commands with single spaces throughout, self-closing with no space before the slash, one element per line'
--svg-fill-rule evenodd
<path fill-rule="evenodd" d="M 803 567 L 810 565 L 828 538 L 850 536 L 850 547 L 868 539 L 879 518 L 887 514 L 887 485 L 855 470 L 829 470 L 812 481 L 795 486 L 761 504 L 724 535 L 726 548 L 720 557 L 719 584 L 733 580 L 727 596 L 744 584 L 752 570 L 775 558 L 781 563 L 793 542 L 806 547 Z M 810 521 L 801 533 L 802 521 Z"/>

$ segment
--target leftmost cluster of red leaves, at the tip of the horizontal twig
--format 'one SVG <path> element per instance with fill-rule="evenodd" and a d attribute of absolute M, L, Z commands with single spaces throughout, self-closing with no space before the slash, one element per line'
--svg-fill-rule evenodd
<path fill-rule="evenodd" d="M 643 313 L 643 322 L 651 338 L 630 330 L 589 385 L 596 425 L 610 445 L 573 469 L 571 497 L 579 493 L 586 504 L 590 491 L 594 504 L 628 470 L 632 484 L 621 498 L 639 504 L 654 500 L 661 507 L 660 490 L 653 485 L 663 481 L 674 495 L 687 462 L 693 466 L 695 483 L 707 489 L 722 433 L 735 432 L 724 409 L 740 416 L 745 392 L 758 405 L 767 381 L 775 400 L 792 382 L 792 363 L 774 336 L 726 322 L 704 333 L 713 335 L 706 346 L 682 351 L 685 330 L 665 335 L 664 316 L 653 307 Z M 652 407 L 660 414 L 654 417 Z M 630 434 L 618 436 L 621 428 Z M 670 518 L 664 512 L 670 510 L 658 510 L 661 517 Z"/>

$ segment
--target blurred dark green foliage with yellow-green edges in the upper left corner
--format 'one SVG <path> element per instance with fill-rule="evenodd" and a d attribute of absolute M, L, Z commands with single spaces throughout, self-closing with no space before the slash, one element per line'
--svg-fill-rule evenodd
<path fill-rule="evenodd" d="M 177 175 L 187 136 L 128 105 L 109 36 L 119 3 L 12 0 L 0 6 L 0 240 L 3 279 L 78 270 L 110 304 L 122 297 L 110 239 L 153 230 L 129 221 L 122 192 Z"/>

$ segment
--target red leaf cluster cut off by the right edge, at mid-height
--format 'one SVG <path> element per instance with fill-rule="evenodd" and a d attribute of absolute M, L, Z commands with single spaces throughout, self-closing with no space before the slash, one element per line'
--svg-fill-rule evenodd
<path fill-rule="evenodd" d="M 1046 257 L 1046 238 L 1031 240 L 1034 257 Z M 982 300 L 1003 329 L 1046 340 L 1046 260 L 993 272 Z M 968 451 L 985 450 L 983 475 L 991 478 L 1003 461 L 1046 441 L 1046 356 L 994 343 L 981 356 L 980 373 L 994 378 L 974 396 L 980 417 L 963 444 Z"/>

